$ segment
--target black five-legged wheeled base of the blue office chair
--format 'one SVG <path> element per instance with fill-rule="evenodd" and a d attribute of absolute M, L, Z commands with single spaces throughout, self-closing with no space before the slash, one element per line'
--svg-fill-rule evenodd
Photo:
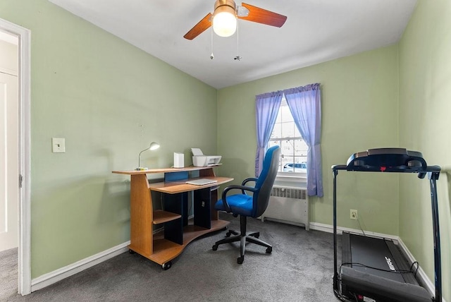
<path fill-rule="evenodd" d="M 265 241 L 262 241 L 259 239 L 260 233 L 258 231 L 253 232 L 247 232 L 246 231 L 246 222 L 247 217 L 246 216 L 240 216 L 240 233 L 234 230 L 229 230 L 226 233 L 226 236 L 228 238 L 223 238 L 220 241 L 216 241 L 213 246 L 213 250 L 217 250 L 218 246 L 223 243 L 232 243 L 240 241 L 240 257 L 237 258 L 238 264 L 242 264 L 242 262 L 245 260 L 245 247 L 246 243 L 255 243 L 259 246 L 265 246 L 266 247 L 266 253 L 271 254 L 273 251 L 273 246 L 271 244 L 266 243 Z M 230 237 L 231 234 L 234 234 L 236 236 Z"/>

